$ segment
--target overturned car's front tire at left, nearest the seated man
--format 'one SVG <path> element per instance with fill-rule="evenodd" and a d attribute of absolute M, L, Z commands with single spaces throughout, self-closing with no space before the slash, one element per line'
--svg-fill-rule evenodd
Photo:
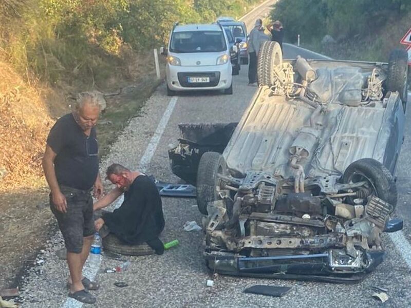
<path fill-rule="evenodd" d="M 217 174 L 225 174 L 226 162 L 218 152 L 205 152 L 197 169 L 197 207 L 201 214 L 207 215 L 207 204 L 217 200 Z"/>

